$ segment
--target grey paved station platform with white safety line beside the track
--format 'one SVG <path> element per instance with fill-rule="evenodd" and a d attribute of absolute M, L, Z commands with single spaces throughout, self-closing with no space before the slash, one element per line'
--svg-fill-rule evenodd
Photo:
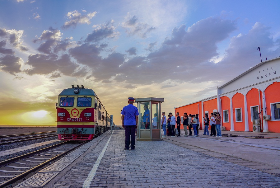
<path fill-rule="evenodd" d="M 242 139 L 165 137 L 124 150 L 124 129 L 107 131 L 15 187 L 279 187 L 279 138 Z"/>

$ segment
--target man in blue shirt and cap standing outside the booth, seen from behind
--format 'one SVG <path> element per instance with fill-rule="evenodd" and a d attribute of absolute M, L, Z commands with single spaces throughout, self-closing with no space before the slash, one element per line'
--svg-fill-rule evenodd
<path fill-rule="evenodd" d="M 122 115 L 122 126 L 125 133 L 125 150 L 134 150 L 135 148 L 135 129 L 138 124 L 138 109 L 136 106 L 133 106 L 134 98 L 128 97 L 128 105 L 124 106 L 121 115 Z"/>

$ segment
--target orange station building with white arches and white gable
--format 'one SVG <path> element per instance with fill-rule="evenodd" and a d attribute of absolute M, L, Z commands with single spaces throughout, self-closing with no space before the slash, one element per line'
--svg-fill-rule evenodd
<path fill-rule="evenodd" d="M 200 129 L 204 114 L 219 112 L 222 130 L 280 133 L 280 57 L 217 87 L 216 96 L 175 107 L 175 112 L 199 114 Z"/>

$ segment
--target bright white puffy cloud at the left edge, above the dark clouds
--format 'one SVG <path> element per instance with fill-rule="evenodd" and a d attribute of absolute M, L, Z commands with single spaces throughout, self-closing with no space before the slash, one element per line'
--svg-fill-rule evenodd
<path fill-rule="evenodd" d="M 15 47 L 16 49 L 19 49 L 21 51 L 27 51 L 27 47 L 22 45 L 22 36 L 23 36 L 22 30 L 16 31 L 16 30 L 6 30 L 5 28 L 0 28 L 0 37 L 6 39 L 9 41 L 10 45 Z"/>

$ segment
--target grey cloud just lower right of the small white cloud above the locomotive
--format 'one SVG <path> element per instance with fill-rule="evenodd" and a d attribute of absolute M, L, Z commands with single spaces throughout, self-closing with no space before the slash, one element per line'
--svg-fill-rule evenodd
<path fill-rule="evenodd" d="M 98 42 L 105 38 L 115 38 L 119 35 L 119 32 L 115 31 L 116 28 L 113 26 L 114 20 L 108 21 L 105 24 L 94 25 L 96 28 L 92 33 L 86 37 L 86 42 Z"/>

